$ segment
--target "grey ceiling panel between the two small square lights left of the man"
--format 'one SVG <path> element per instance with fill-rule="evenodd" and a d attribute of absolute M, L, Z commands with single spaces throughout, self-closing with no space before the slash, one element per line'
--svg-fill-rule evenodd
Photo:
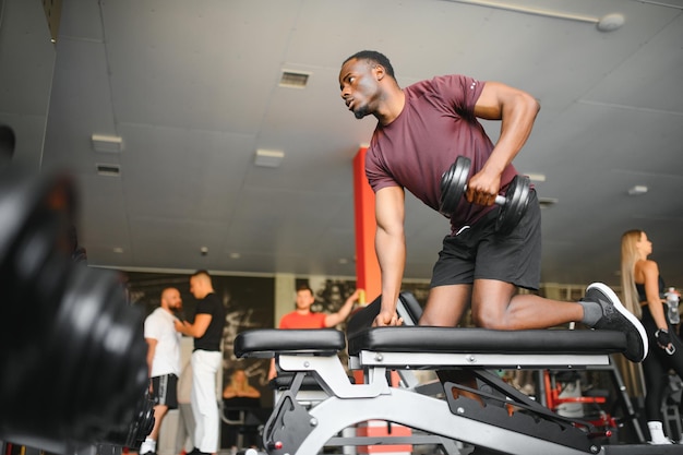
<path fill-rule="evenodd" d="M 252 160 L 252 136 L 128 124 L 121 132 L 131 213 L 229 218 Z"/>

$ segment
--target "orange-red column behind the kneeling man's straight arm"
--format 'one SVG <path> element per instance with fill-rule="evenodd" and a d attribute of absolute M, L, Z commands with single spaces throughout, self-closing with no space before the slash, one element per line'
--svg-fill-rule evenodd
<path fill-rule="evenodd" d="M 354 200 L 356 219 L 356 287 L 366 290 L 366 302 L 382 292 L 380 263 L 374 251 L 374 192 L 366 177 L 366 153 L 360 147 L 354 157 Z"/>

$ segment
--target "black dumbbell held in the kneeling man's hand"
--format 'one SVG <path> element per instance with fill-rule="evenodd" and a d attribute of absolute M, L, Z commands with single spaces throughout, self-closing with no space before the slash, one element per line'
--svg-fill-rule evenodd
<path fill-rule="evenodd" d="M 471 160 L 458 156 L 455 163 L 441 177 L 441 201 L 439 212 L 451 217 L 457 212 L 458 204 L 467 191 L 467 179 Z M 498 232 L 510 232 L 522 219 L 529 205 L 530 181 L 526 176 L 515 176 L 504 196 L 496 195 L 495 203 L 501 206 L 495 220 Z"/>

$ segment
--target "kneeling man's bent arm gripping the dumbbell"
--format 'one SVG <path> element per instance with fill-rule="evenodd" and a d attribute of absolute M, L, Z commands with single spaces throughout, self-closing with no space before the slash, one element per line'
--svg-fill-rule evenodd
<path fill-rule="evenodd" d="M 503 170 L 531 134 L 540 105 L 528 93 L 499 82 L 487 82 L 475 104 L 475 116 L 500 120 L 501 134 L 491 156 L 467 183 L 467 201 L 491 205 L 501 189 Z"/>

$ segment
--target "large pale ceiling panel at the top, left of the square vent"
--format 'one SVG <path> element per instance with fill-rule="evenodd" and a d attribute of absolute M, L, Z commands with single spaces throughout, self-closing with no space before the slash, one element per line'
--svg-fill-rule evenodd
<path fill-rule="evenodd" d="M 292 2 L 257 3 L 109 4 L 107 51 L 121 120 L 254 133 L 296 14 Z"/>

